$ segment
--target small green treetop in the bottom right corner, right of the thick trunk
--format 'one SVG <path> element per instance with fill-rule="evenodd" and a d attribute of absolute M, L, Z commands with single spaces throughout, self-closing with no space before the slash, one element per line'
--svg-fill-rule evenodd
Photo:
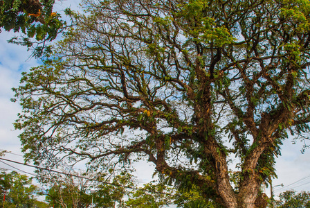
<path fill-rule="evenodd" d="M 309 191 L 284 191 L 279 195 L 280 200 L 275 201 L 275 207 L 278 208 L 308 208 L 310 207 L 310 193 Z"/>

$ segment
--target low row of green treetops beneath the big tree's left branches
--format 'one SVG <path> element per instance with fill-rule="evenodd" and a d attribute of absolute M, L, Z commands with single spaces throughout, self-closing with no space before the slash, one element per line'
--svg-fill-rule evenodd
<path fill-rule="evenodd" d="M 179 192 L 164 184 L 144 184 L 137 187 L 133 176 L 128 173 L 109 175 L 88 175 L 73 173 L 70 175 L 49 175 L 44 177 L 46 202 L 51 207 L 143 207 L 160 208 L 187 204 L 220 207 L 215 202 L 208 202 L 195 189 L 190 192 Z M 75 175 L 73 177 L 73 175 Z M 207 199 L 208 200 L 208 199 Z"/>

